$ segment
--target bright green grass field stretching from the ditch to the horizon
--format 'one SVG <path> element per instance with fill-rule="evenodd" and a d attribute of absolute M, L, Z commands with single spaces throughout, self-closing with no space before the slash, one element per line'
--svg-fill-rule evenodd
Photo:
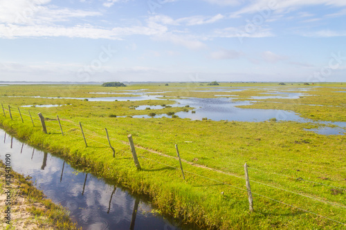
<path fill-rule="evenodd" d="M 116 180 L 135 193 L 149 197 L 159 213 L 168 214 L 202 229 L 345 229 L 345 135 L 319 135 L 316 123 L 233 122 L 181 118 L 133 118 L 148 112 L 177 113 L 194 108 L 167 107 L 134 110 L 141 105 L 172 105 L 174 98 L 215 97 L 248 100 L 262 93 L 301 92 L 299 99 L 256 99 L 246 108 L 294 111 L 313 121 L 346 122 L 345 84 L 246 84 L 231 93 L 208 92 L 206 84 L 143 84 L 122 88 L 100 86 L 23 85 L 0 87 L 1 126 L 28 143 L 84 166 L 100 177 Z M 127 90 L 145 89 L 165 100 L 89 102 L 61 97 L 118 97 Z M 205 92 L 195 92 L 203 91 Z M 91 93 L 119 93 L 117 95 Z M 33 97 L 35 96 L 35 97 Z M 40 97 L 36 97 L 40 96 Z M 42 98 L 55 97 L 55 98 Z M 57 104 L 57 107 L 39 105 Z M 10 119 L 8 105 L 11 106 Z M 33 105 L 31 107 L 21 107 Z M 24 123 L 19 117 L 18 108 Z M 33 126 L 28 111 L 33 115 Z M 2 111 L 1 111 L 2 112 Z M 42 132 L 37 113 L 46 117 L 48 135 Z M 60 117 L 64 136 L 57 122 Z M 116 115 L 117 117 L 111 117 Z M 82 122 L 85 146 L 79 122 Z M 107 128 L 116 157 L 109 148 Z M 136 144 L 137 171 L 127 135 Z M 185 180 L 174 144 L 183 159 Z M 249 165 L 253 213 L 248 211 L 244 163 Z"/>

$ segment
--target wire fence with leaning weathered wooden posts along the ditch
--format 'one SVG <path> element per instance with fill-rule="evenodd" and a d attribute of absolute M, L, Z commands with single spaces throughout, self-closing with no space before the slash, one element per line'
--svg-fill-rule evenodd
<path fill-rule="evenodd" d="M 171 155 L 166 155 L 164 153 L 158 153 L 156 151 L 150 151 L 148 150 L 147 148 L 143 148 L 141 146 L 135 146 L 134 144 L 134 140 L 132 139 L 132 135 L 129 134 L 127 136 L 127 139 L 129 142 L 125 142 L 125 141 L 122 141 L 122 140 L 116 140 L 114 138 L 110 138 L 109 137 L 109 131 L 107 130 L 107 128 L 104 128 L 104 131 L 105 131 L 105 135 L 102 137 L 102 135 L 100 135 L 99 133 L 95 133 L 95 130 L 100 130 L 100 129 L 103 129 L 103 128 L 99 128 L 99 127 L 95 127 L 95 126 L 90 126 L 88 124 L 82 124 L 81 122 L 79 122 L 79 124 L 76 124 L 75 122 L 72 122 L 71 120 L 64 120 L 64 119 L 60 119 L 60 117 L 57 115 L 57 119 L 45 119 L 44 116 L 41 114 L 41 113 L 38 113 L 38 117 L 33 117 L 30 113 L 30 111 L 28 111 L 28 114 L 26 113 L 21 113 L 20 111 L 20 108 L 18 107 L 18 112 L 17 111 L 14 111 L 12 110 L 11 111 L 11 107 L 10 105 L 8 105 L 8 110 L 6 108 L 3 107 L 3 104 L 1 104 L 2 108 L 3 108 L 3 117 L 5 119 L 11 119 L 11 120 L 14 120 L 14 117 L 12 117 L 12 113 L 18 113 L 19 116 L 18 116 L 18 120 L 21 121 L 21 123 L 24 123 L 24 122 L 30 122 L 32 123 L 33 127 L 35 127 L 35 122 L 39 122 L 42 126 L 42 131 L 44 133 L 46 133 L 48 135 L 48 133 L 50 131 L 55 131 L 57 133 L 61 133 L 62 136 L 66 136 L 66 135 L 73 135 L 75 137 L 80 137 L 80 140 L 84 140 L 84 144 L 87 147 L 89 147 L 89 145 L 87 144 L 88 142 L 94 142 L 96 144 L 100 144 L 102 146 L 107 146 L 111 149 L 112 153 L 113 153 L 113 157 L 116 157 L 116 151 L 122 151 L 124 153 L 129 153 L 128 150 L 124 150 L 124 149 L 121 149 L 121 148 L 116 148 L 114 146 L 111 145 L 111 142 L 117 142 L 118 144 L 121 144 L 121 145 L 126 145 L 127 148 L 128 146 L 130 147 L 130 152 L 132 154 L 132 157 L 133 157 L 133 160 L 134 160 L 134 166 L 136 166 L 136 168 L 138 170 L 141 169 L 141 166 L 140 166 L 140 161 L 138 160 L 138 158 L 140 160 L 147 160 L 147 161 L 150 161 L 150 162 L 155 162 L 156 164 L 161 164 L 161 165 L 164 165 L 164 166 L 167 166 L 167 167 L 170 167 L 172 169 L 176 169 L 178 171 L 181 171 L 181 174 L 183 176 L 183 180 L 185 180 L 185 174 L 188 173 L 188 175 L 193 175 L 193 176 L 197 176 L 197 177 L 200 177 L 200 178 L 204 178 L 206 180 L 210 180 L 210 181 L 213 181 L 213 182 L 218 182 L 220 184 L 224 184 L 226 186 L 230 186 L 232 187 L 233 189 L 237 189 L 239 191 L 243 191 L 244 193 L 247 193 L 248 195 L 248 202 L 249 202 L 249 210 L 251 212 L 255 211 L 255 207 L 256 207 L 256 203 L 253 202 L 253 195 L 255 196 L 258 196 L 258 197 L 261 197 L 261 198 L 264 198 L 264 199 L 267 199 L 267 200 L 271 200 L 273 202 L 277 202 L 277 203 L 280 203 L 280 204 L 284 204 L 288 207 L 292 207 L 294 209 L 298 209 L 300 211 L 304 211 L 305 213 L 310 213 L 312 215 L 316 215 L 320 218 L 325 218 L 326 220 L 330 220 L 332 222 L 336 222 L 338 224 L 343 224 L 343 225 L 346 225 L 343 220 L 334 220 L 332 218 L 329 218 L 328 216 L 325 216 L 325 215 L 320 215 L 318 213 L 315 213 L 313 211 L 309 211 L 307 209 L 303 209 L 301 207 L 298 207 L 297 205 L 293 205 L 293 204 L 287 204 L 286 202 L 282 202 L 280 200 L 277 200 L 275 198 L 271 198 L 271 197 L 268 197 L 267 195 L 262 195 L 260 193 L 257 193 L 257 192 L 253 192 L 251 191 L 251 186 L 250 184 L 260 184 L 261 186 L 266 186 L 270 189 L 278 189 L 280 191 L 284 191 L 285 193 L 291 193 L 293 195 L 298 195 L 302 198 L 307 198 L 307 199 L 310 199 L 310 200 L 314 200 L 316 202 L 320 202 L 322 204 L 326 204 L 326 205 L 329 205 L 330 207 L 337 207 L 337 208 L 341 208 L 341 209 L 346 209 L 346 206 L 344 206 L 343 204 L 337 204 L 336 202 L 332 202 L 332 201 L 329 201 L 329 200 L 326 200 L 326 199 L 318 199 L 318 198 L 315 198 L 311 195 L 306 195 L 306 194 L 302 194 L 302 193 L 299 193 L 299 192 L 296 192 L 296 191 L 289 191 L 287 189 L 283 189 L 283 188 L 280 188 L 278 186 L 273 186 L 271 184 L 265 184 L 263 182 L 259 182 L 259 181 L 256 181 L 256 180 L 251 180 L 249 178 L 249 172 L 248 172 L 248 169 L 250 169 L 250 172 L 253 171 L 258 171 L 258 172 L 262 172 L 262 173 L 266 173 L 268 175 L 276 175 L 276 176 L 280 176 L 280 177 L 284 177 L 284 178 L 291 178 L 293 180 L 298 180 L 300 182 L 307 182 L 307 183 L 310 183 L 310 184 L 316 184 L 316 185 L 319 185 L 319 186 L 325 186 L 325 187 L 331 187 L 333 189 L 337 189 L 338 191 L 346 191 L 345 188 L 342 188 L 342 187 L 338 187 L 338 186 L 332 186 L 330 184 L 325 184 L 325 183 L 320 183 L 320 182 L 314 182 L 312 180 L 304 180 L 303 178 L 294 178 L 290 175 L 284 175 L 284 174 L 281 174 L 281 173 L 275 173 L 275 172 L 270 172 L 270 171 L 264 171 L 262 169 L 255 169 L 251 166 L 248 166 L 246 163 L 244 164 L 244 166 L 240 166 L 240 165 L 235 165 L 233 164 L 233 166 L 235 167 L 242 167 L 244 168 L 244 177 L 240 176 L 240 175 L 236 175 L 235 173 L 227 173 L 227 172 L 224 172 L 224 171 L 220 171 L 218 169 L 212 169 L 210 167 L 207 167 L 207 166 L 203 166 L 201 164 L 197 164 L 195 162 L 189 162 L 188 160 L 183 160 L 181 158 L 181 155 L 179 154 L 179 150 L 178 150 L 178 146 L 175 144 L 175 148 L 176 148 L 176 157 L 173 157 Z M 6 117 L 6 111 L 8 111 L 9 115 L 10 115 L 10 118 Z M 23 119 L 22 115 L 25 115 L 27 117 L 30 117 L 30 120 L 29 119 Z M 16 119 L 17 117 L 15 117 Z M 35 120 L 35 122 L 34 122 Z M 14 120 L 15 121 L 15 120 Z M 50 123 L 50 126 L 46 126 L 46 122 Z M 62 124 L 63 122 L 65 122 L 65 124 Z M 59 129 L 57 128 L 54 128 L 53 127 L 53 124 L 55 124 L 56 126 L 59 127 Z M 76 128 L 74 128 L 74 131 L 69 131 L 69 128 L 71 128 L 71 126 L 73 127 L 76 127 L 76 128 L 79 128 L 80 129 L 80 135 L 76 134 L 75 133 L 75 130 Z M 88 128 L 85 128 L 88 127 Z M 36 126 L 37 127 L 37 126 Z M 84 127 L 84 128 L 83 128 Z M 65 131 L 64 131 L 64 128 L 65 128 Z M 68 131 L 66 131 L 68 130 Z M 89 136 L 86 136 L 86 135 L 89 135 Z M 95 140 L 95 138 L 92 138 L 92 137 L 98 137 L 98 138 L 102 138 L 104 140 L 107 140 L 108 144 L 105 144 L 105 143 L 102 143 L 98 140 Z M 82 139 L 83 138 L 83 139 Z M 158 161 L 158 160 L 154 160 L 154 159 L 151 159 L 149 157 L 145 157 L 143 155 L 140 155 L 138 156 L 137 153 L 136 153 L 136 148 L 140 148 L 140 149 L 145 149 L 145 151 L 148 151 L 150 153 L 154 153 L 160 157 L 165 157 L 163 159 L 171 159 L 171 160 L 176 160 L 179 162 L 179 166 L 180 167 L 176 167 L 176 166 L 172 166 L 170 164 L 166 164 L 166 163 L 163 163 L 161 161 Z M 191 152 L 190 152 L 191 153 Z M 187 170 L 184 170 L 183 168 L 183 164 L 182 162 L 185 164 L 185 166 L 193 166 L 193 167 L 199 167 L 203 170 L 206 170 L 206 171 L 213 171 L 215 173 L 220 173 L 222 175 L 227 175 L 227 176 L 230 176 L 230 177 L 233 177 L 233 178 L 237 178 L 237 179 L 240 179 L 240 180 L 244 180 L 244 184 L 240 185 L 240 184 L 237 184 L 237 185 L 234 185 L 234 184 L 230 184 L 230 183 L 227 183 L 227 182 L 223 182 L 221 180 L 217 180 L 217 179 L 214 179 L 214 178 L 210 178 L 206 175 L 200 175 L 199 173 L 194 173 L 194 172 L 191 172 L 191 171 L 187 171 Z M 251 173 L 253 173 L 251 172 Z M 240 186 L 246 186 L 246 188 L 242 188 Z M 224 195 L 224 193 L 222 192 L 222 195 Z"/>

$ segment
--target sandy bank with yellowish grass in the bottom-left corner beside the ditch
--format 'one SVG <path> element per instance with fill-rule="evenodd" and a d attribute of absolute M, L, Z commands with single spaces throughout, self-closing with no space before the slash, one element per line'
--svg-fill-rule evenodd
<path fill-rule="evenodd" d="M 8 191 L 5 181 L 5 164 L 0 161 L 0 193 Z M 1 222 L 3 229 L 77 229 L 71 222 L 69 213 L 63 207 L 46 199 L 42 191 L 39 191 L 30 182 L 30 178 L 10 171 L 10 224 L 5 220 Z M 6 207 L 6 202 L 1 202 L 1 213 Z M 4 216 L 4 214 L 3 214 Z"/>

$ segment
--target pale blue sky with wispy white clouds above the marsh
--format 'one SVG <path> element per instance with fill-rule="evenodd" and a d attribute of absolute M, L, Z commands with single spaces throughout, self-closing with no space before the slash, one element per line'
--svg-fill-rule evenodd
<path fill-rule="evenodd" d="M 0 0 L 0 81 L 345 82 L 345 0 Z"/>

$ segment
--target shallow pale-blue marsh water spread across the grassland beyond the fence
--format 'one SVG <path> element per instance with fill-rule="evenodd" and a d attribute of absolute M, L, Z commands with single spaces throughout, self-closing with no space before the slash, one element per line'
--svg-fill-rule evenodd
<path fill-rule="evenodd" d="M 318 87 L 318 86 L 316 86 Z M 283 111 L 275 109 L 255 109 L 255 108 L 238 108 L 237 106 L 246 106 L 253 104 L 257 99 L 298 99 L 300 97 L 307 97 L 306 91 L 309 88 L 297 88 L 286 90 L 281 92 L 277 88 L 262 88 L 267 90 L 266 93 L 262 93 L 263 96 L 251 97 L 248 101 L 234 102 L 232 95 L 226 95 L 222 93 L 232 93 L 235 91 L 248 90 L 251 87 L 201 87 L 203 90 L 192 90 L 192 92 L 215 92 L 217 98 L 197 98 L 197 97 L 173 97 L 173 99 L 165 99 L 160 93 L 167 93 L 167 91 L 161 92 L 147 92 L 145 90 L 122 90 L 119 93 L 91 93 L 109 95 L 109 97 L 48 97 L 48 98 L 64 98 L 64 99 L 87 99 L 90 102 L 114 102 L 114 101 L 143 101 L 143 100 L 162 100 L 163 104 L 167 100 L 173 100 L 174 104 L 170 104 L 173 107 L 189 106 L 192 111 L 178 112 L 176 116 L 181 118 L 188 118 L 192 120 L 196 119 L 211 119 L 215 121 L 228 120 L 237 122 L 264 122 L 269 119 L 276 119 L 277 121 L 294 121 L 294 122 L 311 122 L 320 124 L 319 128 L 310 129 L 322 135 L 344 135 L 346 132 L 346 122 L 315 122 L 311 119 L 301 117 L 299 114 L 293 111 Z M 297 93 L 297 90 L 299 92 Z M 293 92 L 287 92 L 293 91 Z M 132 96 L 114 96 L 114 95 L 132 95 Z M 49 105 L 48 105 L 49 106 Z M 53 106 L 53 105 L 50 105 Z M 150 110 L 163 109 L 165 106 L 138 106 L 137 110 L 148 110 L 148 115 L 133 115 L 135 118 L 149 118 Z M 149 110 L 150 109 L 150 110 Z M 155 115 L 154 118 L 171 117 L 166 114 Z M 336 125 L 338 127 L 329 127 L 325 125 Z"/>

